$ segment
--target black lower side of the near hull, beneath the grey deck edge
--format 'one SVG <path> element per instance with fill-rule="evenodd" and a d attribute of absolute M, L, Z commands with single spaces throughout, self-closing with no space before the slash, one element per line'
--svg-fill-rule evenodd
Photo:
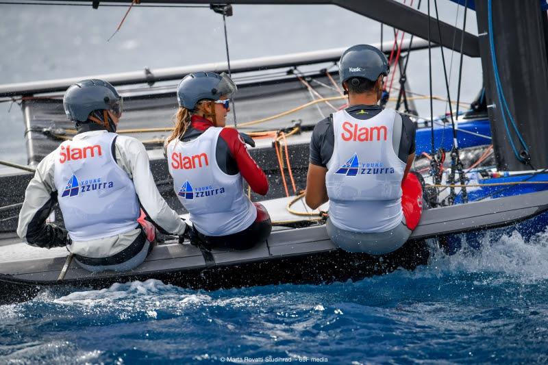
<path fill-rule="evenodd" d="M 414 270 L 428 262 L 429 250 L 424 240 L 407 242 L 388 255 L 348 253 L 335 249 L 296 257 L 275 258 L 263 262 L 174 270 L 142 275 L 90 277 L 77 280 L 32 281 L 0 275 L 0 305 L 27 301 L 45 288 L 108 288 L 114 283 L 158 279 L 164 284 L 182 288 L 217 290 L 275 284 L 329 284 L 334 281 L 360 280 L 373 275 L 391 273 L 397 268 Z"/>

